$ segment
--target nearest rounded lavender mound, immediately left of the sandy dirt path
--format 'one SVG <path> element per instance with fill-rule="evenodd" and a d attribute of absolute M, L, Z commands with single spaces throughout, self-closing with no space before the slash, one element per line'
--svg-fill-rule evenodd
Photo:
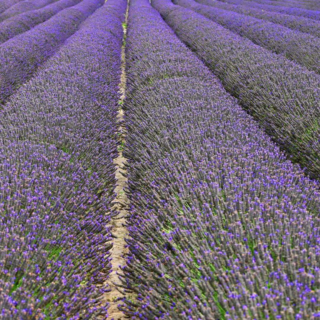
<path fill-rule="evenodd" d="M 2 318 L 103 316 L 97 298 L 107 288 L 97 285 L 111 267 L 110 231 L 86 190 L 97 178 L 54 146 L 13 142 L 2 150 Z"/>

